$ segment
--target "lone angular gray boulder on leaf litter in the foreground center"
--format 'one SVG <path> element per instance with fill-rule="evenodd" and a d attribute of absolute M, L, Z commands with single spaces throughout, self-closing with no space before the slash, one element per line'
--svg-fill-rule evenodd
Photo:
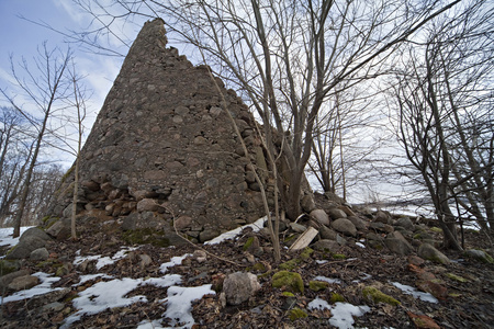
<path fill-rule="evenodd" d="M 223 293 L 228 305 L 240 305 L 260 290 L 257 275 L 236 272 L 228 274 L 223 282 Z"/>

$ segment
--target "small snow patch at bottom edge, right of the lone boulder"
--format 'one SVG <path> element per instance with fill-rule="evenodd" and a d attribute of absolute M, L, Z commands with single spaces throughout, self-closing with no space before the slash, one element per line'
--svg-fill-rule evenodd
<path fill-rule="evenodd" d="M 366 305 L 355 306 L 349 303 L 340 302 L 337 302 L 332 306 L 319 297 L 308 303 L 307 307 L 308 309 L 329 309 L 333 315 L 329 319 L 329 325 L 339 329 L 353 328 L 353 317 L 360 317 L 370 310 L 370 307 Z"/>

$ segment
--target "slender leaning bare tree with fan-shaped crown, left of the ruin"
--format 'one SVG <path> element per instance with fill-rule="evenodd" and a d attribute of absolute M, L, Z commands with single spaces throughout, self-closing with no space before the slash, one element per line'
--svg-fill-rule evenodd
<path fill-rule="evenodd" d="M 46 42 L 38 48 L 38 56 L 34 58 L 35 70 L 30 69 L 27 61 L 23 58 L 19 65 L 25 78 L 20 75 L 11 58 L 12 76 L 16 82 L 19 93 L 13 97 L 8 90 L 0 90 L 11 105 L 31 124 L 35 129 L 33 154 L 26 167 L 25 179 L 16 208 L 13 236 L 20 235 L 21 220 L 26 208 L 26 202 L 33 180 L 34 169 L 45 141 L 45 135 L 52 129 L 49 121 L 57 111 L 65 109 L 65 99 L 70 94 L 70 84 L 66 79 L 67 65 L 71 58 L 70 49 L 61 53 L 55 48 L 49 50 Z M 30 105 L 23 105 L 16 98 L 24 97 Z"/>

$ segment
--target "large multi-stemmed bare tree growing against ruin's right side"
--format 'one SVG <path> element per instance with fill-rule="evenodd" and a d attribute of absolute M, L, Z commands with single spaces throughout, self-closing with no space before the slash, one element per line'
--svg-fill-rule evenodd
<path fill-rule="evenodd" d="M 262 118 L 268 144 L 271 126 L 278 136 L 290 132 L 282 144 L 288 172 L 280 170 L 279 185 L 291 219 L 301 213 L 304 169 L 324 102 L 344 81 L 351 86 L 375 77 L 395 46 L 459 2 L 439 8 L 436 1 L 173 0 L 105 5 L 76 0 L 101 24 L 92 30 L 97 37 L 105 32 L 115 37 L 119 20 L 161 16 L 169 33 L 199 47 L 215 73 L 242 92 Z M 85 44 L 89 34 L 83 34 Z"/>

